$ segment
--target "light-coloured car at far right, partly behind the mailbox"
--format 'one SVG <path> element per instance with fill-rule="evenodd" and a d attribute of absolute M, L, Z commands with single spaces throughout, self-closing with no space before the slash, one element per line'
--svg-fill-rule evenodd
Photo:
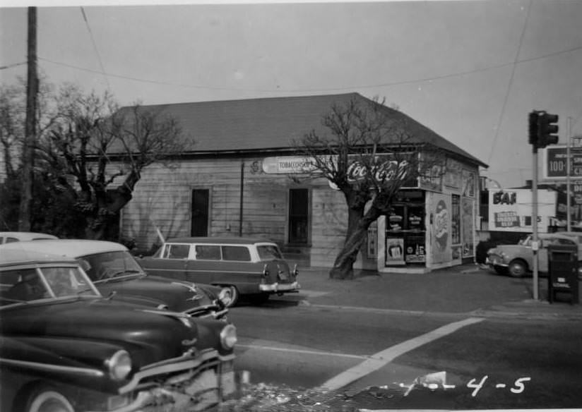
<path fill-rule="evenodd" d="M 557 232 L 553 234 L 539 234 L 538 271 L 547 274 L 548 253 L 547 247 L 552 244 L 576 245 L 578 260 L 582 260 L 582 234 L 577 232 Z M 487 265 L 499 274 L 509 274 L 512 277 L 523 277 L 533 270 L 532 236 L 513 245 L 498 245 L 487 251 Z M 582 269 L 582 264 L 581 264 Z M 578 276 L 581 274 L 578 273 Z"/>

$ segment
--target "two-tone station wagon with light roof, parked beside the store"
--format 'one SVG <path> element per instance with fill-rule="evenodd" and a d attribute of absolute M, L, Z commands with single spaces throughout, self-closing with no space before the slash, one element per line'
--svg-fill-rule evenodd
<path fill-rule="evenodd" d="M 231 290 L 230 304 L 244 295 L 256 303 L 273 293 L 296 293 L 297 265 L 290 269 L 276 243 L 256 238 L 173 238 L 141 265 L 160 277 L 201 281 Z"/>

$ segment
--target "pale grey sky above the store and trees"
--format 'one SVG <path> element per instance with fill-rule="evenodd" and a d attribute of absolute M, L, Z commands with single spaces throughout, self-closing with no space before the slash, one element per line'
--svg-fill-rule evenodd
<path fill-rule="evenodd" d="M 358 92 L 385 99 L 489 165 L 533 177 L 528 113 L 582 135 L 582 1 L 327 1 L 172 5 L 0 0 L 0 83 L 39 72 L 122 105 Z M 538 178 L 542 175 L 540 154 Z"/>

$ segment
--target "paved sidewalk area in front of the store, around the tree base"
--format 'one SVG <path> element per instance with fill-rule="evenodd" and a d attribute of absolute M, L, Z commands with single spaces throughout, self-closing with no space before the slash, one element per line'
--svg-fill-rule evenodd
<path fill-rule="evenodd" d="M 329 279 L 328 272 L 321 267 L 299 269 L 302 289 L 298 295 L 285 298 L 304 305 L 408 313 L 582 320 L 582 304 L 547 301 L 547 278 L 540 278 L 539 299 L 535 301 L 533 278 L 501 276 L 473 263 L 426 274 L 356 270 L 351 281 Z"/>

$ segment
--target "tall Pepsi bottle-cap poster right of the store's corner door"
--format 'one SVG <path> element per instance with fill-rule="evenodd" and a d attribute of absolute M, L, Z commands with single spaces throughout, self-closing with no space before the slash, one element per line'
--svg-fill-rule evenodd
<path fill-rule="evenodd" d="M 431 205 L 432 262 L 451 260 L 451 198 L 434 193 Z"/>

